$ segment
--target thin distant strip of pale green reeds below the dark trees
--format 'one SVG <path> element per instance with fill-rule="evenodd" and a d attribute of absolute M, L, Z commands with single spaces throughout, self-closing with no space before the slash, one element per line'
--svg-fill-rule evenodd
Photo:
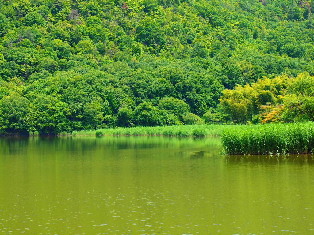
<path fill-rule="evenodd" d="M 73 131 L 70 135 L 161 135 L 161 136 L 220 136 L 220 134 L 232 125 L 181 125 L 158 127 L 130 127 L 130 128 L 105 128 L 97 130 Z"/>

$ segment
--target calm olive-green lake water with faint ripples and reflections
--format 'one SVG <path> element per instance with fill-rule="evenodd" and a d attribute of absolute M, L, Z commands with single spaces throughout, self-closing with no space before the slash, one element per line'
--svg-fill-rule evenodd
<path fill-rule="evenodd" d="M 0 138 L 0 234 L 314 234 L 314 162 L 219 138 Z"/>

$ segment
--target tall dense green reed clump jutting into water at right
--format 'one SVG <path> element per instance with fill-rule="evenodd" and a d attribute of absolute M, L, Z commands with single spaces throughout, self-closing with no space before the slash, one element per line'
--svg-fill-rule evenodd
<path fill-rule="evenodd" d="M 221 140 L 229 154 L 308 154 L 314 152 L 314 123 L 235 126 Z"/>

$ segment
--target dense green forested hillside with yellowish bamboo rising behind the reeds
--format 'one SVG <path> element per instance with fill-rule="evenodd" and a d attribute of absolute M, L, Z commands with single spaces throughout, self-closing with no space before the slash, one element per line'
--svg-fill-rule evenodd
<path fill-rule="evenodd" d="M 0 132 L 314 121 L 314 0 L 1 0 Z"/>

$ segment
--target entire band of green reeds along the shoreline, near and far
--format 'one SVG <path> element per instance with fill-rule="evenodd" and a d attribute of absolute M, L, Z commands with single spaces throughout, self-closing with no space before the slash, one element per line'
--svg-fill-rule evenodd
<path fill-rule="evenodd" d="M 314 123 L 271 123 L 258 125 L 182 125 L 107 128 L 59 133 L 67 136 L 217 136 L 226 154 L 314 153 Z"/>

